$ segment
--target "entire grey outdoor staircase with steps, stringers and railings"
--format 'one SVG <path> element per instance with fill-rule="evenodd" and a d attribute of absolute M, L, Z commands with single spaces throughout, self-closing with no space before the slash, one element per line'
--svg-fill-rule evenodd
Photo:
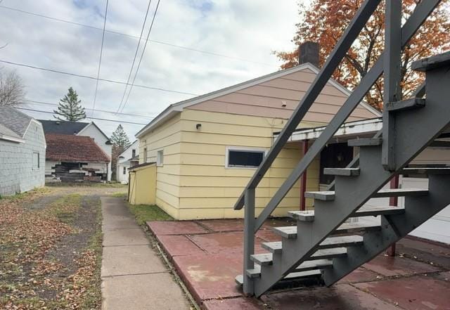
<path fill-rule="evenodd" d="M 417 98 L 401 101 L 399 92 L 401 49 L 440 1 L 420 1 L 400 27 L 401 1 L 387 0 L 385 53 L 255 218 L 255 188 L 259 181 L 379 2 L 367 0 L 362 4 L 235 205 L 235 209 L 245 205 L 243 275 L 236 280 L 247 295 L 258 297 L 279 281 L 309 276 L 321 276 L 326 285 L 333 285 L 450 204 L 450 169 L 404 168 L 450 124 L 450 52 L 413 63 L 414 70 L 426 73 L 426 98 L 420 98 L 425 84 L 416 91 Z M 360 148 L 359 166 L 354 160 L 344 169 L 325 169 L 325 174 L 335 176 L 334 190 L 307 192 L 307 198 L 314 198 L 314 211 L 289 212 L 297 226 L 274 228 L 282 241 L 264 243 L 269 253 L 254 254 L 255 233 L 383 72 L 387 107 L 383 112 L 383 133 L 349 141 L 350 146 Z M 428 190 L 381 190 L 393 176 L 404 173 L 427 174 Z M 370 198 L 399 196 L 405 197 L 405 207 L 362 207 Z M 350 217 L 371 216 L 379 216 L 380 224 L 345 222 Z"/>

